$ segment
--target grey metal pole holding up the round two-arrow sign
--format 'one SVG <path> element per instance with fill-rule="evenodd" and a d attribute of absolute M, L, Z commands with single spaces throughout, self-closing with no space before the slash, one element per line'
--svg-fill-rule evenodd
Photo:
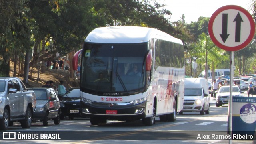
<path fill-rule="evenodd" d="M 232 135 L 232 108 L 233 108 L 233 77 L 234 77 L 234 51 L 230 53 L 230 93 L 228 103 L 228 134 Z M 229 144 L 232 144 L 232 139 L 229 140 Z"/>

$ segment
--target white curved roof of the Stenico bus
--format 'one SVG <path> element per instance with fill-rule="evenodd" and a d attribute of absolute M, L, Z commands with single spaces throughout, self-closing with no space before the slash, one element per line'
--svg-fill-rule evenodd
<path fill-rule="evenodd" d="M 177 39 L 165 32 L 154 28 L 139 26 L 112 26 L 100 27 L 92 30 L 85 39 L 89 43 L 144 43 L 152 38 L 172 41 L 182 44 Z"/>

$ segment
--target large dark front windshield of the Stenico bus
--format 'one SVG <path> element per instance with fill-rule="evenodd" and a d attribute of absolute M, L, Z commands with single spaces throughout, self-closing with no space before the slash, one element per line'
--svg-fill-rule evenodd
<path fill-rule="evenodd" d="M 91 94 L 130 93 L 143 89 L 147 43 L 85 43 L 81 89 Z"/>

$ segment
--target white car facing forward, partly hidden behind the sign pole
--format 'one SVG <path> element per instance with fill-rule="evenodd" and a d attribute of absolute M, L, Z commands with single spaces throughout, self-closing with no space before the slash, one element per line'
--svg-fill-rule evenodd
<path fill-rule="evenodd" d="M 229 101 L 229 92 L 230 86 L 222 86 L 216 93 L 216 107 L 220 107 L 224 104 L 228 104 Z M 240 91 L 237 85 L 233 86 L 233 97 L 242 97 L 243 91 Z"/>

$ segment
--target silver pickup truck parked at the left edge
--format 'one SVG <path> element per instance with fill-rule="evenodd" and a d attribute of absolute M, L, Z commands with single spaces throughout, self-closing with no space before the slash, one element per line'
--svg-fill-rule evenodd
<path fill-rule="evenodd" d="M 30 128 L 36 107 L 34 91 L 29 91 L 17 77 L 0 77 L 0 130 L 7 130 L 13 122 Z"/>

